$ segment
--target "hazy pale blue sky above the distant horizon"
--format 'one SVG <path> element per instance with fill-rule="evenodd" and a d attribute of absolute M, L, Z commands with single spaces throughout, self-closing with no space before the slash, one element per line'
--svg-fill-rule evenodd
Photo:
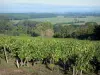
<path fill-rule="evenodd" d="M 100 0 L 0 0 L 0 12 L 95 11 Z"/>

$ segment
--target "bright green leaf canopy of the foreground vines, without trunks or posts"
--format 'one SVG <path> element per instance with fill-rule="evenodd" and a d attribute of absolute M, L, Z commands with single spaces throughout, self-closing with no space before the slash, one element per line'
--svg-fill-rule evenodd
<path fill-rule="evenodd" d="M 24 63 L 31 59 L 43 60 L 50 57 L 53 64 L 59 59 L 66 62 L 69 58 L 73 58 L 75 64 L 71 64 L 72 67 L 89 72 L 92 69 L 90 61 L 93 57 L 96 56 L 100 61 L 99 45 L 92 41 L 4 36 L 0 37 L 0 47 L 4 46 L 6 51 L 8 50 L 9 58 L 18 56 L 21 60 L 25 60 Z"/>

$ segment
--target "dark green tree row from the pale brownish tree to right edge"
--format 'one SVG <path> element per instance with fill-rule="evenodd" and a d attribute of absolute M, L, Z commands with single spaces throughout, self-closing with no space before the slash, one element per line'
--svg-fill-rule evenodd
<path fill-rule="evenodd" d="M 85 25 L 63 25 L 54 26 L 54 37 L 99 39 L 99 25 L 96 22 L 87 22 Z"/>

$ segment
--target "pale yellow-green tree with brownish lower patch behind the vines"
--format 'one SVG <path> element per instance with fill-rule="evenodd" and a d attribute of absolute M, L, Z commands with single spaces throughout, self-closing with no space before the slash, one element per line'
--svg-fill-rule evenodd
<path fill-rule="evenodd" d="M 44 36 L 53 36 L 53 25 L 50 22 L 43 22 L 36 25 L 34 28 L 35 33 Z"/>

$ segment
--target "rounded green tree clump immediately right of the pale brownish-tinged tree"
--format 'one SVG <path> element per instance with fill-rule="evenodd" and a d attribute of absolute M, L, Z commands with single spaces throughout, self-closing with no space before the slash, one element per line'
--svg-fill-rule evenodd
<path fill-rule="evenodd" d="M 72 33 L 74 32 L 75 28 L 72 25 L 56 25 L 54 26 L 54 37 L 72 37 Z"/>

